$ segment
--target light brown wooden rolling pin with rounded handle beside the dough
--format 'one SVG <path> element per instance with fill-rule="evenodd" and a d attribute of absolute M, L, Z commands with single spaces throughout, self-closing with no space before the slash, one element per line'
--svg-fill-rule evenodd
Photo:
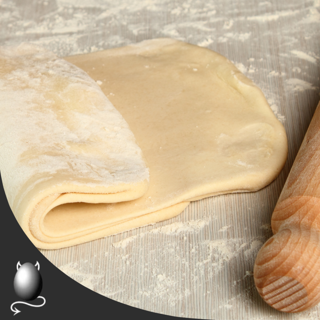
<path fill-rule="evenodd" d="M 274 233 L 260 249 L 254 282 L 285 312 L 320 301 L 320 102 L 272 214 Z"/>

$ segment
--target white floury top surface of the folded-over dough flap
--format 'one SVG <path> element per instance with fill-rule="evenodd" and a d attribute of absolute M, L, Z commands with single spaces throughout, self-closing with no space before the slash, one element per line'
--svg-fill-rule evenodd
<path fill-rule="evenodd" d="M 148 179 L 128 124 L 83 70 L 28 43 L 0 47 L 0 58 L 0 164 L 14 212 L 57 174 L 90 188 Z"/>

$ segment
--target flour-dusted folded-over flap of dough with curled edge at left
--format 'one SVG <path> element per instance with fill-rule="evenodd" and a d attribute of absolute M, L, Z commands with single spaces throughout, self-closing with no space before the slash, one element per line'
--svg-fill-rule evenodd
<path fill-rule="evenodd" d="M 84 71 L 32 44 L 0 48 L 0 170 L 10 207 L 40 248 L 85 242 L 104 228 L 89 207 L 68 235 L 45 216 L 65 203 L 142 196 L 149 172 L 120 113 Z M 61 225 L 64 221 L 59 221 Z"/>

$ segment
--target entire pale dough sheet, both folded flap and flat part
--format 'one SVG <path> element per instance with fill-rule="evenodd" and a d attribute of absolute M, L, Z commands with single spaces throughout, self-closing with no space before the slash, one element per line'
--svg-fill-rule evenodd
<path fill-rule="evenodd" d="M 34 147 L 27 148 L 23 143 L 29 142 L 26 131 L 28 125 L 24 125 L 20 130 L 19 139 L 13 137 L 16 131 L 12 132 L 8 127 L 2 130 L 7 136 L 5 141 L 14 141 L 14 145 L 17 145 L 15 148 L 19 147 L 15 157 L 19 158 L 20 162 L 15 160 L 14 167 L 9 165 L 12 152 L 9 149 L 14 148 L 4 147 L 8 150 L 5 152 L 5 164 L 1 166 L 1 174 L 5 168 L 4 186 L 18 221 L 26 215 L 28 208 L 37 207 L 38 212 L 45 212 L 30 216 L 28 222 L 22 219 L 25 221 L 22 223 L 25 232 L 29 232 L 29 237 L 34 237 L 33 241 L 38 247 L 55 249 L 83 243 L 171 218 L 183 211 L 190 201 L 224 193 L 256 191 L 274 180 L 284 166 L 287 138 L 283 125 L 274 116 L 261 90 L 229 60 L 216 52 L 177 40 L 154 39 L 65 59 L 83 69 L 100 84 L 101 90 L 129 124 L 147 159 L 150 183 L 146 190 L 146 167 L 130 132 L 127 138 L 123 137 L 121 140 L 122 146 L 117 145 L 117 148 L 114 148 L 109 142 L 110 137 L 117 137 L 117 128 L 126 128 L 128 131 L 124 124 L 115 124 L 110 120 L 110 126 L 99 127 L 99 119 L 103 117 L 104 111 L 90 111 L 90 118 L 93 116 L 95 122 L 87 125 L 87 120 L 83 123 L 83 116 L 76 113 L 80 112 L 80 109 L 87 110 L 89 102 L 92 102 L 94 110 L 100 110 L 100 107 L 94 107 L 95 99 L 98 98 L 92 99 L 92 92 L 99 92 L 96 93 L 99 99 L 106 98 L 101 96 L 97 88 L 85 91 L 79 87 L 65 91 L 63 99 L 70 101 L 72 106 L 68 108 L 72 111 L 66 111 L 65 106 L 61 105 L 57 110 L 54 109 L 55 111 L 50 109 L 44 116 L 43 111 L 38 111 L 41 109 L 40 103 L 28 107 L 23 116 L 20 114 L 17 117 L 20 120 L 17 120 L 14 127 L 21 126 L 22 119 L 32 115 L 33 125 L 36 123 L 42 128 L 41 134 L 35 138 Z M 65 66 L 71 68 L 69 64 Z M 17 68 L 17 64 L 12 63 L 10 68 Z M 24 69 L 25 66 L 21 66 L 20 72 Z M 55 72 L 53 66 L 50 70 Z M 7 77 L 5 84 L 12 86 L 14 103 L 18 104 L 23 90 L 27 89 L 22 89 L 22 84 L 16 84 L 17 80 L 10 80 L 12 72 L 14 73 L 7 70 L 2 74 Z M 28 81 L 36 83 L 36 72 L 29 72 Z M 55 99 L 47 98 L 46 94 L 60 99 L 60 81 L 68 82 L 68 75 L 64 80 L 52 80 L 49 86 L 44 86 L 43 83 L 35 84 L 37 94 L 43 96 L 45 101 Z M 73 85 L 80 84 L 75 81 Z M 82 107 L 76 103 L 80 93 L 81 99 L 85 101 Z M 16 116 L 20 112 L 13 111 L 10 106 L 7 109 L 8 115 L 10 113 Z M 35 111 L 28 111 L 31 109 Z M 116 111 L 112 112 L 117 114 Z M 87 113 L 84 111 L 84 114 Z M 106 118 L 109 113 L 111 111 L 105 114 Z M 61 120 L 61 115 L 68 118 L 68 124 Z M 50 123 L 50 126 L 46 123 Z M 77 138 L 67 139 L 67 136 L 61 134 L 63 130 L 67 132 L 67 129 L 62 127 L 67 127 Z M 108 129 L 103 129 L 104 127 Z M 48 137 L 47 140 L 41 138 L 43 135 Z M 76 140 L 83 136 L 89 139 L 91 135 L 94 136 L 92 140 L 95 143 L 101 143 L 99 148 L 97 147 L 99 152 L 91 145 L 79 145 Z M 84 172 L 80 164 L 78 167 L 75 160 L 68 160 L 68 152 L 63 156 L 60 156 L 60 153 L 52 155 L 47 149 L 49 138 L 52 142 L 50 148 L 61 150 L 62 144 L 66 152 L 72 151 L 77 157 L 87 159 L 88 165 L 85 167 L 90 168 L 88 173 Z M 67 142 L 70 139 L 74 142 Z M 128 154 L 128 163 L 114 162 L 113 165 L 118 169 L 122 168 L 119 169 L 122 172 L 119 185 L 135 185 L 135 196 L 140 197 L 123 199 L 125 201 L 120 202 L 116 198 L 106 201 L 100 195 L 103 192 L 99 191 L 96 198 L 95 195 L 92 196 L 92 199 L 96 200 L 89 201 L 86 196 L 87 193 L 93 193 L 88 191 L 90 188 L 107 188 L 100 184 L 99 187 L 96 186 L 96 180 L 103 174 L 98 169 L 99 174 L 95 176 L 95 166 L 100 168 L 101 164 L 101 168 L 106 168 L 102 165 L 104 156 L 111 159 L 110 155 L 113 155 L 114 158 L 121 159 L 122 152 L 126 154 L 126 150 L 130 149 L 127 148 L 127 143 L 132 150 L 136 150 L 136 157 Z M 105 146 L 104 153 L 102 146 Z M 35 155 L 43 159 L 41 161 L 45 163 L 46 170 L 39 170 L 38 164 L 42 162 L 34 160 Z M 61 159 L 61 174 L 56 173 L 59 172 L 58 168 L 51 168 L 52 164 L 49 166 L 46 162 L 50 156 L 54 164 Z M 129 161 L 131 157 L 136 161 L 132 162 L 132 167 Z M 21 162 L 21 159 L 24 160 Z M 28 178 L 22 181 L 18 178 L 18 172 L 27 170 L 23 169 L 27 162 L 36 169 L 30 169 Z M 110 177 L 114 172 L 118 172 L 116 169 L 106 170 Z M 19 188 L 15 188 L 16 180 L 21 180 Z M 40 180 L 41 188 L 35 182 Z M 73 180 L 78 182 L 71 184 Z M 59 183 L 61 186 L 68 185 L 68 188 L 63 189 Z M 85 188 L 89 189 L 80 191 L 85 184 L 88 184 Z M 14 192 L 15 189 L 20 191 Z M 62 189 L 63 191 L 60 191 Z M 112 190 L 112 195 L 122 193 L 122 189 L 116 190 L 115 186 Z M 84 195 L 83 198 L 77 196 L 77 192 Z M 41 195 L 44 200 L 30 201 L 32 196 L 29 196 L 29 193 L 34 198 Z M 57 197 L 57 194 L 60 196 Z M 64 202 L 60 204 L 59 199 Z M 24 206 L 21 206 L 21 203 Z M 41 206 L 43 208 L 40 208 Z M 34 231 L 38 225 L 41 235 Z"/>

